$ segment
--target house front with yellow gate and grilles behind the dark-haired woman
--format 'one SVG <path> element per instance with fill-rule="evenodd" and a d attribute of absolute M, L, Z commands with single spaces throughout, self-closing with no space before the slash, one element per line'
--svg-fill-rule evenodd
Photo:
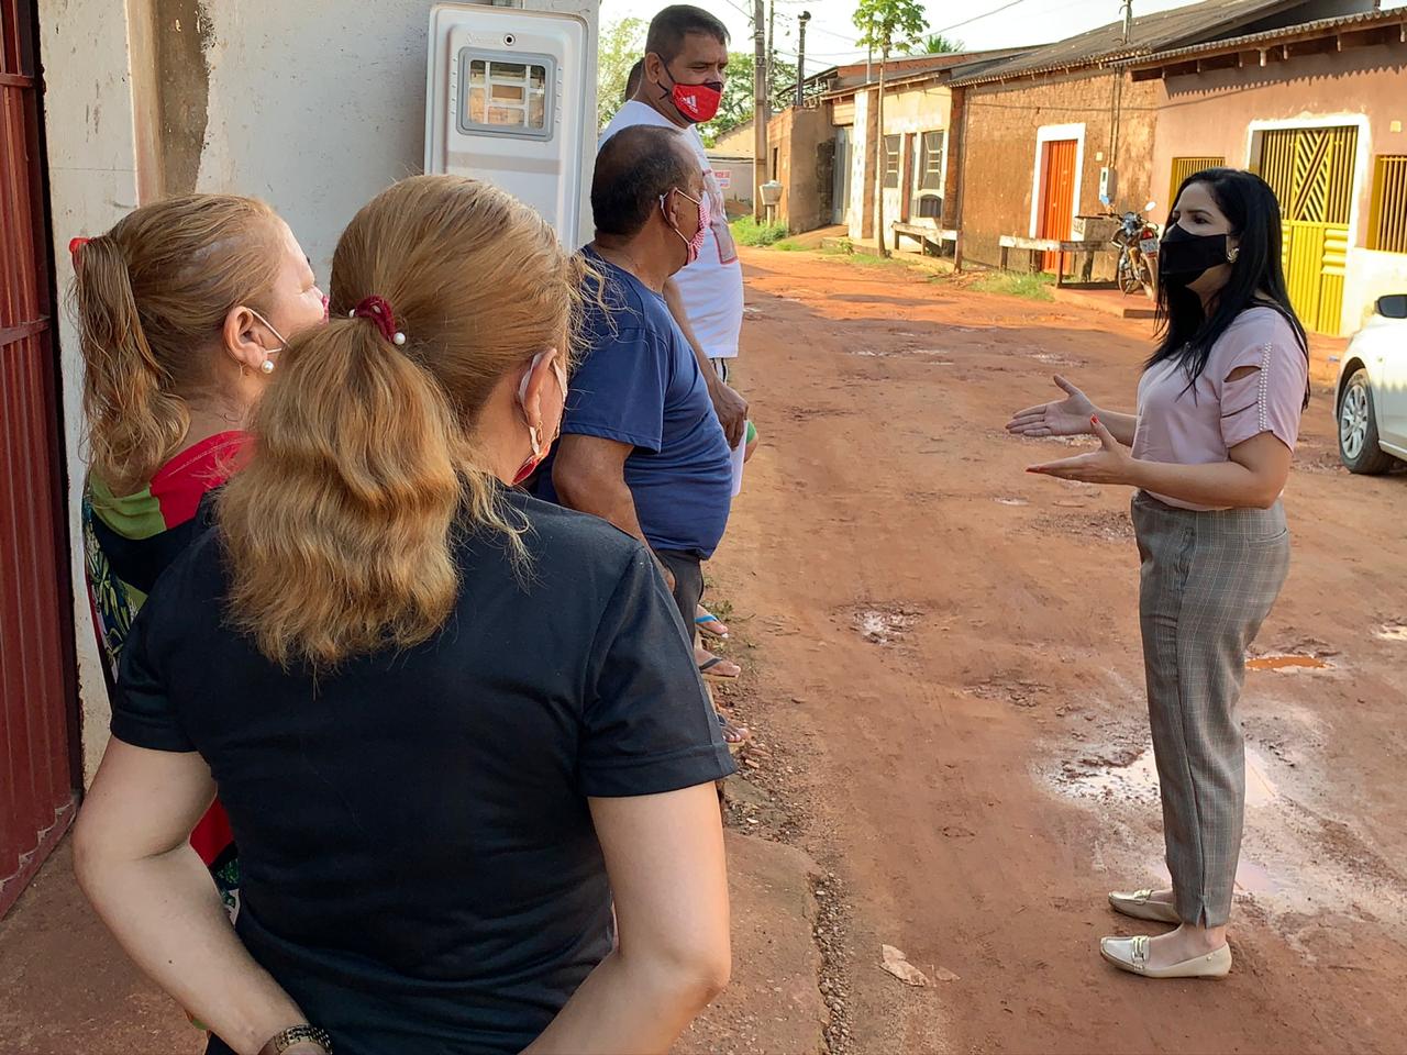
<path fill-rule="evenodd" d="M 1155 193 L 1199 167 L 1258 172 L 1280 201 L 1304 325 L 1352 333 L 1407 293 L 1407 10 L 1320 20 L 1130 65 L 1157 91 Z"/>

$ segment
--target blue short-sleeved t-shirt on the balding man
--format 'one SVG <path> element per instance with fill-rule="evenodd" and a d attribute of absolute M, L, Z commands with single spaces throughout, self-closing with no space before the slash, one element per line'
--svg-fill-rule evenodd
<path fill-rule="evenodd" d="M 733 468 L 694 350 L 664 298 L 590 249 L 605 276 L 602 309 L 592 297 L 585 347 L 571 377 L 563 433 L 635 447 L 625 482 L 650 547 L 708 560 L 727 526 Z M 556 502 L 556 457 L 537 475 L 537 495 Z"/>

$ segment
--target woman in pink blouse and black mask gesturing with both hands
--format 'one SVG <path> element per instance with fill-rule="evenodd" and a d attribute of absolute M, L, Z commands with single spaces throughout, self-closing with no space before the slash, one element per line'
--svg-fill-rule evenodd
<path fill-rule="evenodd" d="M 1172 889 L 1114 892 L 1116 912 L 1178 924 L 1104 938 L 1109 962 L 1147 978 L 1231 969 L 1227 917 L 1245 814 L 1237 701 L 1245 650 L 1290 560 L 1280 492 L 1309 404 L 1309 346 L 1280 267 L 1280 210 L 1258 176 L 1209 169 L 1178 191 L 1159 250 L 1161 342 L 1138 412 L 1065 399 L 1017 414 L 1019 436 L 1093 435 L 1100 446 L 1029 471 L 1138 488 L 1138 616 Z"/>

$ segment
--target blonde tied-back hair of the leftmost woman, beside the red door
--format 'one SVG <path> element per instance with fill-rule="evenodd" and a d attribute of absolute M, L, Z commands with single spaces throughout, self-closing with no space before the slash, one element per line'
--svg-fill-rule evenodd
<path fill-rule="evenodd" d="M 229 194 L 144 205 L 82 246 L 83 412 L 91 467 L 114 494 L 139 490 L 180 450 L 225 315 L 265 302 L 280 249 L 273 210 Z"/>

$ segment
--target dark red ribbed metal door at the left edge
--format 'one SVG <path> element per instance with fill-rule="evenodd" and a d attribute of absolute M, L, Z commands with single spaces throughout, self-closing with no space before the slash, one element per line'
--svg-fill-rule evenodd
<path fill-rule="evenodd" d="M 0 0 L 0 914 L 77 800 L 31 0 Z"/>

